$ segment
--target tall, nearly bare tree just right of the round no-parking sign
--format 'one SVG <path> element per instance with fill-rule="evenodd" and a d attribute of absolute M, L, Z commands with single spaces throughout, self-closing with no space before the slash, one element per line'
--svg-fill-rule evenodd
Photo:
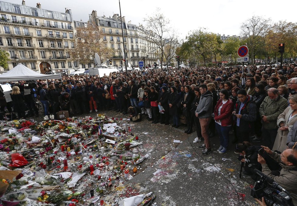
<path fill-rule="evenodd" d="M 253 64 L 255 62 L 255 54 L 257 54 L 258 48 L 260 48 L 259 45 L 263 43 L 262 37 L 267 34 L 270 27 L 271 20 L 260 16 L 252 16 L 241 25 L 241 33 L 247 37 L 247 46 L 249 52 L 251 52 L 250 57 L 253 60 Z"/>

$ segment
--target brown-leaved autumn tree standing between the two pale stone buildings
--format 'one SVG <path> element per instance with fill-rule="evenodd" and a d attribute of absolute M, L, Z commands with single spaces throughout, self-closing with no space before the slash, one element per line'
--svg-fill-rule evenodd
<path fill-rule="evenodd" d="M 86 27 L 77 27 L 73 39 L 75 48 L 71 51 L 71 57 L 83 64 L 94 62 L 95 53 L 103 59 L 111 58 L 112 49 L 104 44 L 103 36 L 100 26 L 87 23 Z"/>

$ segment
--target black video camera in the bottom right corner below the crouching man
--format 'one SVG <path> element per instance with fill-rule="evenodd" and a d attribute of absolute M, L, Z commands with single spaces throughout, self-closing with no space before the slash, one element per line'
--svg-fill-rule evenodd
<path fill-rule="evenodd" d="M 285 190 L 278 183 L 273 181 L 270 177 L 254 169 L 254 172 L 260 176 L 254 187 L 251 190 L 251 196 L 261 199 L 264 197 L 265 203 L 268 206 L 293 206 L 292 199 L 287 190 Z"/>

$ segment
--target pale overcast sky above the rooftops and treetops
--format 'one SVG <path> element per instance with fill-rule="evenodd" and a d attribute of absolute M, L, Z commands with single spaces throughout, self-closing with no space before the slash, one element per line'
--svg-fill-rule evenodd
<path fill-rule="evenodd" d="M 22 4 L 22 0 L 5 2 Z M 87 21 L 92 10 L 96 10 L 98 16 L 104 14 L 107 17 L 120 13 L 119 2 L 116 0 L 26 0 L 26 5 L 36 7 L 37 2 L 42 9 L 60 12 L 65 12 L 65 7 L 71 9 L 74 20 Z M 121 0 L 121 12 L 126 21 L 131 20 L 136 25 L 143 23 L 143 19 L 153 15 L 159 7 L 181 38 L 199 27 L 226 36 L 240 35 L 241 23 L 253 15 L 271 18 L 272 21 L 296 22 L 296 6 L 297 1 L 294 0 Z"/>

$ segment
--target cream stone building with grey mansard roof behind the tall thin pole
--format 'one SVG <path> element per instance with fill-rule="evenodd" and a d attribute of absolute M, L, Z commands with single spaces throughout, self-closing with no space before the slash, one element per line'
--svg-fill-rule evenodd
<path fill-rule="evenodd" d="M 157 61 L 156 45 L 146 38 L 146 31 L 131 24 L 131 21 L 126 22 L 124 16 L 122 17 L 124 39 L 121 31 L 121 17 L 118 14 L 114 14 L 112 17 L 97 16 L 97 12 L 93 10 L 89 21 L 102 28 L 105 34 L 103 37 L 105 45 L 113 49 L 112 65 L 122 65 L 123 42 L 128 64 L 137 66 L 142 58 L 145 58 L 145 65 L 153 65 Z"/>

